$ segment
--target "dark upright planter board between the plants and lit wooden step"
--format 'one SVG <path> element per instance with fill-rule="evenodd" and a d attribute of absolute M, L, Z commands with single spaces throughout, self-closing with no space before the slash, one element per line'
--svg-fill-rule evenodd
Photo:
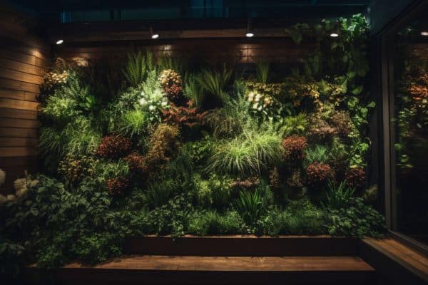
<path fill-rule="evenodd" d="M 146 236 L 127 239 L 124 250 L 126 254 L 206 257 L 352 256 L 358 252 L 358 240 L 330 236 Z"/>

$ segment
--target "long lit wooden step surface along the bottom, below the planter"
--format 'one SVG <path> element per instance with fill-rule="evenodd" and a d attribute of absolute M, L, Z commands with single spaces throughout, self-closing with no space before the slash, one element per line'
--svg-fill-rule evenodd
<path fill-rule="evenodd" d="M 93 267 L 73 263 L 63 269 L 161 271 L 374 271 L 360 257 L 126 257 Z"/>

